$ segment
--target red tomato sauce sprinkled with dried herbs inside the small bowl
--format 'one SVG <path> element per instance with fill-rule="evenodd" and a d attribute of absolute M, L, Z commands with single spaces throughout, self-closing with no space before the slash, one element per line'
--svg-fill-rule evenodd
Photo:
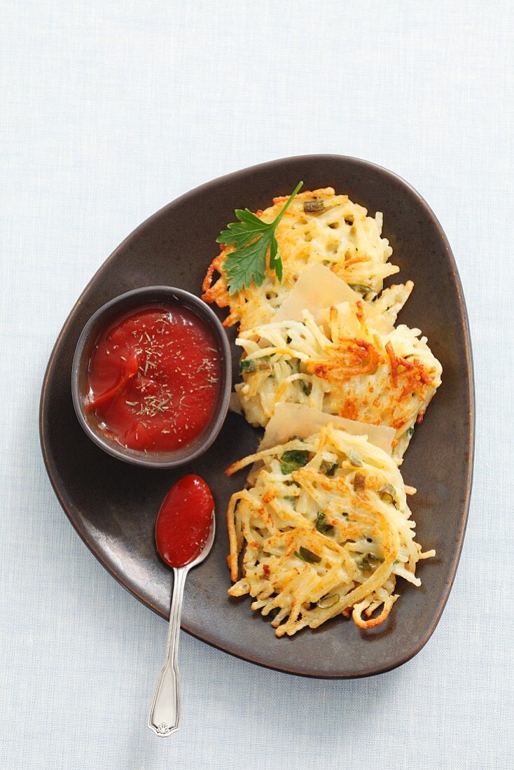
<path fill-rule="evenodd" d="M 181 449 L 207 426 L 220 371 L 213 333 L 198 316 L 179 305 L 147 305 L 96 340 L 86 410 L 124 447 Z"/>

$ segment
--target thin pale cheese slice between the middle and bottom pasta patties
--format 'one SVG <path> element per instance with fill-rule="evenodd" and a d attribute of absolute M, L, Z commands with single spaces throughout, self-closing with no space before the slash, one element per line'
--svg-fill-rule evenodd
<path fill-rule="evenodd" d="M 395 438 L 395 429 L 385 425 L 368 425 L 358 423 L 355 420 L 347 420 L 346 417 L 336 417 L 317 409 L 307 407 L 304 403 L 277 403 L 274 416 L 267 423 L 264 438 L 260 442 L 259 449 L 270 449 L 277 444 L 285 444 L 291 436 L 308 438 L 319 433 L 324 425 L 332 423 L 339 430 L 344 430 L 351 436 L 367 436 L 370 444 L 391 455 L 392 443 Z"/>

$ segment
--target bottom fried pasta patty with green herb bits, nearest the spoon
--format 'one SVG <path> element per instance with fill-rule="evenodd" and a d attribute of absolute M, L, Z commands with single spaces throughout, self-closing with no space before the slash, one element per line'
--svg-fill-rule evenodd
<path fill-rule="evenodd" d="M 231 596 L 250 594 L 278 637 L 337 615 L 360 628 L 388 617 L 397 577 L 419 586 L 422 553 L 395 461 L 333 423 L 233 464 L 256 464 L 230 499 Z M 240 560 L 240 554 L 242 559 Z M 240 565 L 241 561 L 241 565 Z"/>

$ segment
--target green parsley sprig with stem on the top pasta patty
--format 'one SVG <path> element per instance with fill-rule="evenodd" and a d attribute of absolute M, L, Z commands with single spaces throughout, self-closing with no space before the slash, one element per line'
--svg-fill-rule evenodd
<path fill-rule="evenodd" d="M 274 270 L 277 279 L 280 283 L 282 282 L 282 259 L 278 253 L 275 231 L 303 184 L 304 182 L 298 182 L 281 213 L 273 222 L 263 222 L 249 209 L 236 209 L 235 214 L 239 222 L 232 222 L 227 225 L 227 229 L 222 230 L 217 237 L 217 243 L 234 246 L 234 250 L 227 255 L 224 263 L 230 294 L 235 294 L 244 289 L 245 286 L 250 286 L 252 281 L 256 286 L 261 285 L 266 276 L 268 248 L 270 249 L 270 270 Z"/>

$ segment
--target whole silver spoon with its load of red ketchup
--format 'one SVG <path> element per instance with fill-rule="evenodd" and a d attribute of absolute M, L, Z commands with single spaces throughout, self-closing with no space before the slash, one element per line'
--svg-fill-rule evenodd
<path fill-rule="evenodd" d="M 191 567 L 207 557 L 214 541 L 213 496 L 200 476 L 184 476 L 171 487 L 157 514 L 155 532 L 157 551 L 173 568 L 173 594 L 166 660 L 153 696 L 148 726 L 160 738 L 167 738 L 180 722 L 177 651 L 184 584 Z"/>

